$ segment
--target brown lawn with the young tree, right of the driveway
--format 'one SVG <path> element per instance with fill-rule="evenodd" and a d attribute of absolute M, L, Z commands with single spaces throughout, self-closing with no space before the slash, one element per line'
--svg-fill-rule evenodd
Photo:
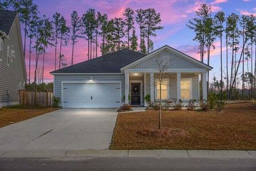
<path fill-rule="evenodd" d="M 228 104 L 224 111 L 119 113 L 110 149 L 256 150 L 256 105 Z"/>

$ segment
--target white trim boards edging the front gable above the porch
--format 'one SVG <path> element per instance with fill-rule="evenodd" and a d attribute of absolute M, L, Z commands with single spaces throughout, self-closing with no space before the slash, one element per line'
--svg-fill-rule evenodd
<path fill-rule="evenodd" d="M 134 66 L 135 64 L 143 62 L 144 60 L 147 60 L 148 58 L 151 58 L 153 55 L 156 55 L 157 53 L 159 53 L 161 51 L 164 51 L 164 50 L 168 50 L 170 52 L 173 52 L 174 54 L 177 54 L 177 55 L 181 56 L 182 58 L 185 58 L 185 59 L 189 60 L 190 62 L 192 62 L 194 64 L 197 64 L 198 66 L 204 67 L 204 68 L 207 69 L 207 71 L 213 69 L 213 67 L 210 67 L 207 64 L 200 62 L 199 60 L 194 59 L 189 55 L 186 55 L 186 54 L 184 54 L 184 53 L 182 53 L 182 52 L 180 52 L 180 51 L 178 51 L 178 50 L 176 50 L 176 49 L 174 49 L 170 46 L 165 45 L 165 46 L 157 49 L 156 51 L 153 51 L 150 54 L 145 55 L 143 58 L 140 58 L 140 59 L 136 60 L 135 62 L 132 62 L 132 63 L 128 64 L 127 66 L 122 67 L 120 70 L 123 71 L 123 70 L 125 70 L 129 67 Z"/>

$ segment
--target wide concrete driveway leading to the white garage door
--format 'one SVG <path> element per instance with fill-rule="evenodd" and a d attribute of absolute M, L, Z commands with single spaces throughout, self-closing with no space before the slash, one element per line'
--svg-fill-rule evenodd
<path fill-rule="evenodd" d="M 116 109 L 60 109 L 0 128 L 0 150 L 108 149 Z"/>

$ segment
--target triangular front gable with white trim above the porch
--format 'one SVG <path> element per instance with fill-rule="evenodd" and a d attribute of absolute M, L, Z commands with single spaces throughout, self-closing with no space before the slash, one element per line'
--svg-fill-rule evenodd
<path fill-rule="evenodd" d="M 163 46 L 156 51 L 145 55 L 143 58 L 136 60 L 135 62 L 128 64 L 127 66 L 121 68 L 121 71 L 127 68 L 131 69 L 152 69 L 156 68 L 156 57 L 162 56 L 165 60 L 169 60 L 170 68 L 204 68 L 206 70 L 212 70 L 212 67 L 200 62 L 183 54 L 180 51 L 175 50 L 169 46 Z"/>

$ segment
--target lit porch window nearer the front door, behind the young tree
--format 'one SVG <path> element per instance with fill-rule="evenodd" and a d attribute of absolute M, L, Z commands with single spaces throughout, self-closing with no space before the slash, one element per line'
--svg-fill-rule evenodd
<path fill-rule="evenodd" d="M 168 99 L 168 84 L 169 84 L 169 79 L 162 79 L 161 83 L 161 99 Z M 156 79 L 156 99 L 160 99 L 160 81 L 159 79 Z"/>

